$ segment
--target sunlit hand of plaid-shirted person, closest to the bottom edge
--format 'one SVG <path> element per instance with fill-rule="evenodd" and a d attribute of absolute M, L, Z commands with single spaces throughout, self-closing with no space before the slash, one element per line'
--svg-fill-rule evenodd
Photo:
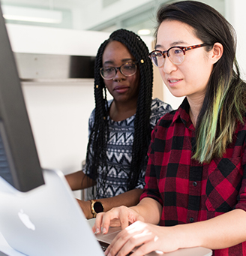
<path fill-rule="evenodd" d="M 132 256 L 141 256 L 151 251 L 175 251 L 178 249 L 178 235 L 173 227 L 160 227 L 136 221 L 115 236 L 111 245 L 105 251 L 106 255 L 124 256 L 136 246 Z"/>

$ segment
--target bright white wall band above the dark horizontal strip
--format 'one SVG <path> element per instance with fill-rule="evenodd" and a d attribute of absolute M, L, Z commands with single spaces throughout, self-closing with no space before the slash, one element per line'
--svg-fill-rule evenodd
<path fill-rule="evenodd" d="M 7 24 L 13 52 L 96 56 L 110 33 Z"/>

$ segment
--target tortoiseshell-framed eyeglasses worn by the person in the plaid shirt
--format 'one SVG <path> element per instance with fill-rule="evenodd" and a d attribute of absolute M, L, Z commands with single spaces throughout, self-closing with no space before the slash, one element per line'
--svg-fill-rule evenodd
<path fill-rule="evenodd" d="M 164 65 L 166 56 L 169 58 L 169 60 L 173 64 L 180 65 L 181 63 L 184 62 L 184 56 L 187 50 L 192 50 L 199 47 L 205 47 L 208 45 L 209 44 L 196 44 L 190 47 L 170 47 L 168 50 L 164 50 L 164 51 L 153 50 L 151 53 L 148 53 L 148 57 L 151 59 L 154 65 L 156 65 L 158 68 Z"/>

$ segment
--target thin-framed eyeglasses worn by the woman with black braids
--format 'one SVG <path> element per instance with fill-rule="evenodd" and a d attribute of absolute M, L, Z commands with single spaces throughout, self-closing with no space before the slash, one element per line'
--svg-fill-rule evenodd
<path fill-rule="evenodd" d="M 117 70 L 119 70 L 125 77 L 133 76 L 133 74 L 136 74 L 136 62 L 127 62 L 120 67 L 109 66 L 100 68 L 100 74 L 105 80 L 111 80 L 115 78 Z"/>

